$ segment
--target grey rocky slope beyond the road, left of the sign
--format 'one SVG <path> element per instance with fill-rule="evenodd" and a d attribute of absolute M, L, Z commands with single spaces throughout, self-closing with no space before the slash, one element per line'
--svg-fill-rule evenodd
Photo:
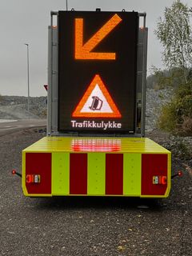
<path fill-rule="evenodd" d="M 0 100 L 0 118 L 46 118 L 46 97 L 30 97 L 30 112 L 28 112 L 27 97 L 2 96 Z"/>

